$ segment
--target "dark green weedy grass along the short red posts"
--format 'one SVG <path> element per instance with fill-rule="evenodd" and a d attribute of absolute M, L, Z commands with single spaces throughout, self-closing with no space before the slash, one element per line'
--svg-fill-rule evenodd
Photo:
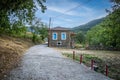
<path fill-rule="evenodd" d="M 70 53 L 62 53 L 62 54 L 68 58 L 71 58 L 71 59 L 73 58 L 73 54 L 70 54 Z M 81 54 L 75 54 L 76 61 L 80 61 L 80 55 Z M 98 66 L 97 72 L 100 72 L 105 75 L 105 65 L 107 64 L 109 69 L 108 76 L 115 80 L 120 80 L 120 63 L 113 64 L 115 63 L 114 60 L 109 61 L 107 58 L 102 59 L 101 57 L 98 57 L 95 54 L 82 54 L 82 55 L 83 55 L 82 63 L 84 63 L 86 66 L 90 67 L 91 60 L 94 60 L 95 61 L 94 64 Z"/>

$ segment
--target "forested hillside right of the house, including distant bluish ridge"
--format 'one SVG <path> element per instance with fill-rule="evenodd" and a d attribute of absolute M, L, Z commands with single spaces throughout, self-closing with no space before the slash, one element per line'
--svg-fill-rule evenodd
<path fill-rule="evenodd" d="M 87 44 L 87 49 L 120 50 L 120 1 L 113 2 L 105 18 L 73 28 L 77 42 Z"/>

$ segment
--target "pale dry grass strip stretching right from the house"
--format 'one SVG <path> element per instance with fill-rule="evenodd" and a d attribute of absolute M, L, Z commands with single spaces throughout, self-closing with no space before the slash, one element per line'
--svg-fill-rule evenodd
<path fill-rule="evenodd" d="M 101 50 L 77 50 L 77 49 L 63 49 L 63 48 L 55 48 L 57 51 L 61 53 L 69 53 L 72 54 L 75 51 L 76 54 L 91 54 L 97 56 L 99 58 L 120 58 L 120 51 L 101 51 Z"/>

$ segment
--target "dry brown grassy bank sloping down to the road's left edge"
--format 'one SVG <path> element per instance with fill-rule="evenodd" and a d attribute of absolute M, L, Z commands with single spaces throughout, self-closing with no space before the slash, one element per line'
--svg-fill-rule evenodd
<path fill-rule="evenodd" d="M 0 36 L 0 79 L 17 66 L 21 56 L 32 45 L 29 39 Z"/>

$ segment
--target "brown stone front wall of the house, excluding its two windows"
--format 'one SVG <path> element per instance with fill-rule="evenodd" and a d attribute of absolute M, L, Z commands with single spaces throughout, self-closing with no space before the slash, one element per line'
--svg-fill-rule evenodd
<path fill-rule="evenodd" d="M 52 40 L 52 33 L 58 34 L 57 40 Z M 66 40 L 61 40 L 61 32 L 66 32 Z M 50 46 L 51 47 L 65 47 L 70 48 L 70 31 L 67 30 L 51 30 L 50 31 Z M 60 43 L 60 44 L 59 44 Z"/>

